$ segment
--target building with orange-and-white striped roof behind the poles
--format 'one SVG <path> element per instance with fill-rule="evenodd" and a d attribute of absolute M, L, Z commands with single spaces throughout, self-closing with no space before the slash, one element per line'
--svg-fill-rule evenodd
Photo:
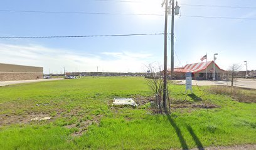
<path fill-rule="evenodd" d="M 227 72 L 214 63 L 213 61 L 207 61 L 195 64 L 186 64 L 183 68 L 174 68 L 174 79 L 186 79 L 186 73 L 192 73 L 192 78 L 195 80 L 213 79 L 213 65 L 215 65 L 215 79 L 221 80 Z M 171 69 L 168 69 L 168 74 L 171 74 Z"/>

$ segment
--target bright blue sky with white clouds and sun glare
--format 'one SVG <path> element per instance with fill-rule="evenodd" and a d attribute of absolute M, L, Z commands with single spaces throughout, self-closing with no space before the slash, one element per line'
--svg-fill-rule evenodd
<path fill-rule="evenodd" d="M 161 3 L 162 0 L 1 0 L 0 37 L 163 33 L 164 16 L 127 15 L 164 15 Z M 256 69 L 256 1 L 179 0 L 178 4 L 181 11 L 174 19 L 175 67 L 199 63 L 205 54 L 211 61 L 218 53 L 216 64 L 221 69 L 241 64 L 241 70 L 245 70 L 244 61 L 248 62 L 248 70 Z M 168 19 L 171 32 L 171 16 Z M 168 40 L 168 66 L 170 44 Z M 42 66 L 45 74 L 63 73 L 63 68 L 68 72 L 97 68 L 104 72 L 145 72 L 149 64 L 163 66 L 163 59 L 164 35 L 0 38 L 0 63 Z"/>

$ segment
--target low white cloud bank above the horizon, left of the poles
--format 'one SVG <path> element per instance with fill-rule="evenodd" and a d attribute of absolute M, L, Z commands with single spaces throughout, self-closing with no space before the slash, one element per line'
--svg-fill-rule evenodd
<path fill-rule="evenodd" d="M 131 53 L 101 53 L 92 55 L 75 53 L 68 49 L 51 49 L 40 45 L 0 44 L 0 63 L 43 66 L 44 73 L 63 73 L 67 71 L 112 71 L 112 72 L 142 72 L 141 66 L 151 57 L 151 54 Z M 105 59 L 114 57 L 115 59 Z"/>

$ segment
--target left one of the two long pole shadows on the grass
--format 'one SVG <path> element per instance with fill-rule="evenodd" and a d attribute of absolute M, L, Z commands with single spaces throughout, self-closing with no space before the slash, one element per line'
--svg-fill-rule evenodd
<path fill-rule="evenodd" d="M 171 126 L 173 126 L 173 128 L 176 131 L 176 134 L 179 138 L 179 142 L 181 143 L 182 149 L 188 149 L 188 144 L 186 144 L 186 141 L 183 138 L 183 135 L 181 134 L 181 129 L 179 129 L 179 127 L 176 125 L 173 118 L 171 118 L 171 115 L 168 112 L 166 112 L 166 116 L 167 116 L 169 122 L 171 123 Z"/>

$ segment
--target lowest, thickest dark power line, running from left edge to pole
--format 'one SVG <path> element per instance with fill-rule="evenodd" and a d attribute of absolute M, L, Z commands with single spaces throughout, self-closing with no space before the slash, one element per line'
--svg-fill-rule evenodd
<path fill-rule="evenodd" d="M 152 35 L 164 35 L 164 33 L 112 34 L 112 35 L 92 35 L 92 36 L 16 36 L 16 37 L 0 37 L 0 39 L 70 38 L 70 37 L 114 37 L 114 36 L 152 36 Z"/>

